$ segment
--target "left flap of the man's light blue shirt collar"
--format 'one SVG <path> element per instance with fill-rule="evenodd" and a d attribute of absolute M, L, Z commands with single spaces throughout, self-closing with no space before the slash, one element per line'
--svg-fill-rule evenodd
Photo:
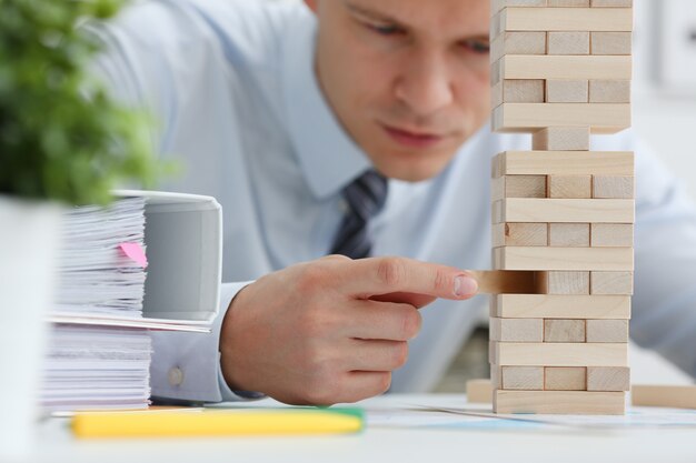
<path fill-rule="evenodd" d="M 284 38 L 282 92 L 289 134 L 309 188 L 337 194 L 371 163 L 346 133 L 324 98 L 315 72 L 317 20 L 302 7 Z"/>

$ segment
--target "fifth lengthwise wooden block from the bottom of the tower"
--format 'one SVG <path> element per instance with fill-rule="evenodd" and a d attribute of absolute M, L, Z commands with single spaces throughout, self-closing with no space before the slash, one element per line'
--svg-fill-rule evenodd
<path fill-rule="evenodd" d="M 633 223 L 635 218 L 634 200 L 507 198 L 496 203 L 494 223 Z"/>

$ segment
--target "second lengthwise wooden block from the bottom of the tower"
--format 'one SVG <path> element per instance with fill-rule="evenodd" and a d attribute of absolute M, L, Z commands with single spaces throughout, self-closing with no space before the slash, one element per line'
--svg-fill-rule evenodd
<path fill-rule="evenodd" d="M 490 342 L 490 361 L 509 366 L 628 366 L 627 344 Z"/>

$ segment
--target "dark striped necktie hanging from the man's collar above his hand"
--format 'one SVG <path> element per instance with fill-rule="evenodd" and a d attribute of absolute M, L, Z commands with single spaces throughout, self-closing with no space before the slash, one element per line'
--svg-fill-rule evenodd
<path fill-rule="evenodd" d="M 365 172 L 344 189 L 348 211 L 334 240 L 331 254 L 344 254 L 351 259 L 370 255 L 372 241 L 368 234 L 368 222 L 387 200 L 387 179 L 374 170 Z"/>

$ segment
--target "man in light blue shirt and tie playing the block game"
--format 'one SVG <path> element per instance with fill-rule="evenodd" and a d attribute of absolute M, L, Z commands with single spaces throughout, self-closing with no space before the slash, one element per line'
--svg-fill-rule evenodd
<path fill-rule="evenodd" d="M 165 188 L 225 209 L 213 335 L 158 334 L 153 394 L 428 390 L 484 303 L 459 269 L 490 268 L 490 155 L 529 144 L 486 128 L 488 1 L 169 0 L 98 33 L 100 72 L 187 160 Z M 643 150 L 637 174 L 634 340 L 696 374 L 696 215 Z M 342 251 L 375 258 L 324 256 Z"/>

